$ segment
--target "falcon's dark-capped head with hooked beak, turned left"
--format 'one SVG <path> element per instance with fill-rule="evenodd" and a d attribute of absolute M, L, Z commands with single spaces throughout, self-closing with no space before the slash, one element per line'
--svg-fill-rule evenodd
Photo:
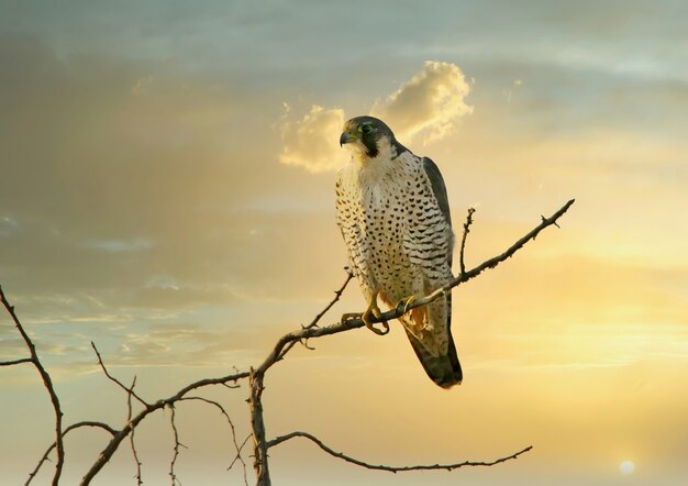
<path fill-rule="evenodd" d="M 392 131 L 382 120 L 373 117 L 356 117 L 344 123 L 340 146 L 346 145 L 362 157 L 375 158 L 398 145 Z"/>

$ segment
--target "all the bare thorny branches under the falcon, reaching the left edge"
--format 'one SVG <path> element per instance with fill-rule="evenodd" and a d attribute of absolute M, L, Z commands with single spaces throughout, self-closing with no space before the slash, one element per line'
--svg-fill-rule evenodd
<path fill-rule="evenodd" d="M 469 209 L 468 210 L 468 216 L 467 216 L 467 220 L 466 223 L 464 224 L 464 234 L 462 238 L 462 243 L 460 243 L 460 250 L 459 250 L 459 264 L 460 264 L 460 273 L 458 276 L 456 276 L 455 278 L 453 278 L 451 281 L 448 281 L 445 286 L 436 289 L 435 291 L 431 292 L 430 295 L 422 297 L 422 298 L 418 298 L 415 300 L 413 300 L 409 306 L 407 306 L 404 309 L 390 309 L 386 312 L 384 312 L 379 318 L 377 319 L 373 319 L 373 322 L 382 322 L 382 321 L 389 321 L 389 320 L 393 320 L 399 318 L 404 311 L 409 311 L 411 309 L 414 309 L 417 307 L 420 306 L 425 306 L 430 302 L 432 302 L 433 300 L 440 298 L 440 296 L 452 291 L 452 288 L 464 284 L 475 277 L 477 277 L 478 275 L 480 275 L 482 272 L 490 269 L 490 268 L 495 268 L 497 265 L 499 265 L 500 263 L 504 262 L 506 259 L 508 259 L 509 257 L 511 257 L 515 252 L 518 252 L 521 247 L 523 247 L 523 245 L 525 245 L 528 242 L 530 242 L 531 240 L 535 240 L 535 238 L 540 234 L 540 232 L 542 232 L 544 229 L 551 227 L 551 225 L 556 225 L 558 228 L 557 224 L 557 220 L 570 208 L 570 206 L 574 203 L 574 199 L 569 200 L 566 205 L 564 205 L 559 210 L 557 210 L 554 214 L 552 214 L 550 218 L 542 218 L 542 222 L 535 227 L 533 230 L 531 230 L 529 233 L 526 233 L 525 235 L 523 235 L 520 240 L 518 240 L 515 243 L 513 243 L 509 248 L 507 248 L 503 253 L 501 253 L 500 255 L 497 255 L 490 259 L 487 259 L 485 262 L 482 262 L 480 265 L 474 267 L 470 270 L 466 270 L 465 269 L 465 264 L 464 264 L 464 251 L 465 251 L 465 245 L 466 245 L 466 239 L 467 239 L 467 234 L 469 232 L 470 229 L 470 224 L 473 223 L 473 213 L 475 212 L 475 210 Z M 136 395 L 134 393 L 134 384 L 135 384 L 135 378 L 134 378 L 134 383 L 132 384 L 131 387 L 126 387 L 124 386 L 119 379 L 116 379 L 114 376 L 112 376 L 109 371 L 107 369 L 103 360 L 100 355 L 100 353 L 98 352 L 98 349 L 96 347 L 96 345 L 93 343 L 91 343 L 93 351 L 97 355 L 98 358 L 98 364 L 100 365 L 101 369 L 103 371 L 103 373 L 106 374 L 106 376 L 112 380 L 113 383 L 115 383 L 120 388 L 122 388 L 126 394 L 127 394 L 127 409 L 129 409 L 129 413 L 127 413 L 127 419 L 126 419 L 126 423 L 125 426 L 121 429 L 121 430 L 114 430 L 111 427 L 101 423 L 101 422 L 79 422 L 79 423 L 75 423 L 73 426 L 69 426 L 67 429 L 65 429 L 64 431 L 62 430 L 62 410 L 59 407 L 59 400 L 57 399 L 57 395 L 55 394 L 55 390 L 53 388 L 49 375 L 47 374 L 47 372 L 44 369 L 44 367 L 41 365 L 38 357 L 35 353 L 35 347 L 33 345 L 33 343 L 31 342 L 31 340 L 29 339 L 29 336 L 26 335 L 26 333 L 24 332 L 22 325 L 19 322 L 19 319 L 16 318 L 16 316 L 14 314 L 14 309 L 13 307 L 11 307 L 8 302 L 7 299 L 4 298 L 4 295 L 2 294 L 2 289 L 0 288 L 0 298 L 2 299 L 2 302 L 4 305 L 4 307 L 7 308 L 8 312 L 12 316 L 12 319 L 15 323 L 15 327 L 18 328 L 18 330 L 20 331 L 20 333 L 22 334 L 24 342 L 26 343 L 30 352 L 31 352 L 31 357 L 29 358 L 20 358 L 20 360 L 14 360 L 14 361 L 8 361 L 8 362 L 2 362 L 0 363 L 0 366 L 11 366 L 11 365 L 15 365 L 15 364 L 22 364 L 22 363 L 33 363 L 34 366 L 38 369 L 44 385 L 46 387 L 46 389 L 48 390 L 48 394 L 51 395 L 51 400 L 53 401 L 53 406 L 55 409 L 55 416 L 56 416 L 56 440 L 53 443 L 53 445 L 51 445 L 48 448 L 48 450 L 46 451 L 46 453 L 44 454 L 43 459 L 41 460 L 41 462 L 38 463 L 38 465 L 36 466 L 36 468 L 34 470 L 34 472 L 31 474 L 27 484 L 31 482 L 31 479 L 33 477 L 35 477 L 35 474 L 37 473 L 38 468 L 41 467 L 41 465 L 47 460 L 47 456 L 49 455 L 49 453 L 52 452 L 53 449 L 57 450 L 57 463 L 56 463 L 56 472 L 55 472 L 55 476 L 53 479 L 53 485 L 56 485 L 58 479 L 59 479 L 59 475 L 62 472 L 62 467 L 64 464 L 64 446 L 63 446 L 63 438 L 65 435 L 66 432 L 74 430 L 76 428 L 79 427 L 86 427 L 86 426 L 90 426 L 90 427 L 99 427 L 102 428 L 104 430 L 107 430 L 108 432 L 111 433 L 112 439 L 110 440 L 110 442 L 107 444 L 107 446 L 102 450 L 102 452 L 100 453 L 100 455 L 98 456 L 98 459 L 96 460 L 96 462 L 91 465 L 91 467 L 89 468 L 89 471 L 86 473 L 86 475 L 84 476 L 82 481 L 81 481 L 81 485 L 88 485 L 90 484 L 91 479 L 102 470 L 102 467 L 110 461 L 110 459 L 112 457 L 112 455 L 115 453 L 115 451 L 119 449 L 119 446 L 121 445 L 122 441 L 124 439 L 126 439 L 127 437 L 130 438 L 131 444 L 132 444 L 132 450 L 134 453 L 134 457 L 135 461 L 137 463 L 137 481 L 138 484 L 142 484 L 142 479 L 141 479 L 141 463 L 138 461 L 138 457 L 136 455 L 136 451 L 134 448 L 134 430 L 135 428 L 141 423 L 142 420 L 144 420 L 148 415 L 157 411 L 157 410 L 162 410 L 165 407 L 170 407 L 171 410 L 171 417 L 170 417 L 170 423 L 171 423 L 171 428 L 174 431 L 174 439 L 175 439 L 175 449 L 174 449 L 174 456 L 170 463 L 170 471 L 169 471 L 169 475 L 171 478 L 171 483 L 173 486 L 178 483 L 178 479 L 176 477 L 176 473 L 175 473 L 175 464 L 177 461 L 177 457 L 179 455 L 179 448 L 184 446 L 180 442 L 179 442 L 179 435 L 178 435 L 178 431 L 175 424 L 175 405 L 178 401 L 182 401 L 182 400 L 201 400 L 208 404 L 211 404 L 215 407 L 218 407 L 221 412 L 225 416 L 225 418 L 229 420 L 230 426 L 232 428 L 232 441 L 234 443 L 234 446 L 236 449 L 236 457 L 234 459 L 234 461 L 232 462 L 232 464 L 230 465 L 230 467 L 232 467 L 232 465 L 238 460 L 244 464 L 244 483 L 247 484 L 247 479 L 246 479 L 246 475 L 245 475 L 245 463 L 242 459 L 242 450 L 245 445 L 245 443 L 247 442 L 247 440 L 249 438 L 253 438 L 253 444 L 254 444 L 254 470 L 256 473 L 256 477 L 257 477 L 257 485 L 258 486 L 269 486 L 270 485 L 270 477 L 269 477 L 269 468 L 268 468 L 268 455 L 267 455 L 267 451 L 269 448 L 278 445 L 282 442 L 286 442 L 290 439 L 297 438 L 297 437 L 302 437 L 306 439 L 309 439 L 311 442 L 315 443 L 320 449 L 322 449 L 323 451 L 325 451 L 326 453 L 342 459 L 344 461 L 347 461 L 349 463 L 359 465 L 362 467 L 367 467 L 367 468 L 371 468 L 371 470 L 381 470 L 381 471 L 388 471 L 388 472 L 392 472 L 392 473 L 397 473 L 397 472 L 402 472 L 402 471 L 425 471 L 425 470 L 446 470 L 446 471 L 453 471 L 455 468 L 458 467 L 464 467 L 464 466 L 491 466 L 495 464 L 499 464 L 502 463 L 504 461 L 509 461 L 509 460 L 513 460 L 517 459 L 519 455 L 530 451 L 532 449 L 532 446 L 528 446 L 525 449 L 523 449 L 522 451 L 519 451 L 514 454 L 511 454 L 509 456 L 506 457 L 501 457 L 491 462 L 471 462 L 471 461 L 464 461 L 464 462 L 457 462 L 457 463 L 453 463 L 453 464 L 434 464 L 434 465 L 418 465 L 418 466 L 386 466 L 386 465 L 374 465 L 374 464 L 369 464 L 359 460 L 356 460 L 354 457 L 351 457 L 348 455 L 345 455 L 343 453 L 336 452 L 334 450 L 332 450 L 331 448 L 329 448 L 328 445 L 325 445 L 322 441 L 320 441 L 319 439 L 317 439 L 315 437 L 307 433 L 307 432 L 291 432 L 288 433 L 286 435 L 281 435 L 278 437 L 276 439 L 273 439 L 270 441 L 268 441 L 266 439 L 266 431 L 265 431 L 265 422 L 264 422 L 264 417 L 263 417 L 263 404 L 262 404 L 262 397 L 263 397 L 263 391 L 265 390 L 265 385 L 264 385 L 264 380 L 265 380 L 265 375 L 267 373 L 267 371 L 276 363 L 278 363 L 279 361 L 282 361 L 286 355 L 292 350 L 292 347 L 297 344 L 297 343 L 301 343 L 303 345 L 306 345 L 306 347 L 311 349 L 308 346 L 308 340 L 309 339 L 313 339 L 313 338 L 321 338 L 324 335 L 331 335 L 331 334 L 336 334 L 340 332 L 345 332 L 345 331 L 349 331 L 353 329 L 358 329 L 358 328 L 363 328 L 364 323 L 360 320 L 360 318 L 355 318 L 355 319 L 351 319 L 351 320 L 345 320 L 342 322 L 337 322 L 334 324 L 330 324 L 330 325 L 325 325 L 325 327 L 320 327 L 319 322 L 322 319 L 322 317 L 340 300 L 340 297 L 342 296 L 344 289 L 346 288 L 346 286 L 348 285 L 348 283 L 353 279 L 353 274 L 351 272 L 347 272 L 347 277 L 344 281 L 344 284 L 342 285 L 342 287 L 335 291 L 335 296 L 334 298 L 326 305 L 326 307 L 319 312 L 315 318 L 306 327 L 301 327 L 300 330 L 293 331 L 293 332 L 289 332 L 285 335 L 282 335 L 277 343 L 275 344 L 274 349 L 271 350 L 271 352 L 267 355 L 267 357 L 263 361 L 263 363 L 256 367 L 256 368 L 251 368 L 249 372 L 240 372 L 238 369 L 236 369 L 236 373 L 224 376 L 224 377 L 220 377 L 220 378 L 206 378 L 206 379 L 201 379 L 195 383 L 191 383 L 189 385 L 187 385 L 186 387 L 181 388 L 180 390 L 178 390 L 175 395 L 165 398 L 165 399 L 160 399 L 154 404 L 148 404 L 147 401 L 145 401 L 143 398 L 141 398 L 138 395 Z M 222 408 L 222 406 L 215 401 L 212 400 L 208 400 L 206 398 L 202 397 L 188 397 L 187 395 L 192 391 L 192 390 L 197 390 L 200 389 L 202 387 L 206 386 L 210 386 L 210 385 L 222 385 L 225 387 L 230 387 L 230 388 L 236 388 L 238 387 L 238 380 L 241 379 L 245 379 L 248 378 L 248 384 L 249 384 L 249 396 L 248 396 L 248 404 L 249 404 L 249 408 L 251 408 L 251 418 L 252 418 L 252 434 L 246 438 L 246 440 L 238 445 L 237 441 L 236 441 L 236 434 L 235 434 L 235 430 L 234 430 L 234 426 L 229 417 L 229 415 L 226 413 L 226 411 Z M 143 410 L 141 410 L 138 413 L 136 413 L 135 416 L 133 416 L 133 410 L 132 410 L 132 397 L 135 398 L 142 406 L 143 406 Z M 131 435 L 130 435 L 131 434 Z"/>

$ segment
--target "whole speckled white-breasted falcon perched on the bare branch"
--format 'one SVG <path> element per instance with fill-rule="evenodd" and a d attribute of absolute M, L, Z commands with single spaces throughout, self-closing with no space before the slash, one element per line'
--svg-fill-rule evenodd
<path fill-rule="evenodd" d="M 362 115 L 344 123 L 340 146 L 351 159 L 337 174 L 335 220 L 349 268 L 367 300 L 366 328 L 381 311 L 378 298 L 400 309 L 398 319 L 428 376 L 442 388 L 460 384 L 463 372 L 452 336 L 452 295 L 408 309 L 452 278 L 454 233 L 446 186 L 436 164 L 414 155 L 381 120 Z"/>

